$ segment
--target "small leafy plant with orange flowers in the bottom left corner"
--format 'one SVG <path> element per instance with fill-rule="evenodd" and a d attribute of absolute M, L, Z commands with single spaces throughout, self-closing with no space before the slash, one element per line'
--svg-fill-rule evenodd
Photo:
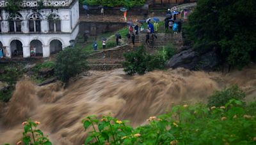
<path fill-rule="evenodd" d="M 45 137 L 44 133 L 37 129 L 40 122 L 38 121 L 25 121 L 22 123 L 24 125 L 24 132 L 22 132 L 22 141 L 17 142 L 17 144 L 21 144 L 22 142 L 25 145 L 29 144 L 37 144 L 37 145 L 51 145 L 52 143 L 49 141 L 47 137 Z"/>

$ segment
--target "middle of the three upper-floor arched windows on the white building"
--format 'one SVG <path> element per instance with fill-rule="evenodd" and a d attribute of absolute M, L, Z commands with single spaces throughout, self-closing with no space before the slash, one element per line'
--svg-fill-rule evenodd
<path fill-rule="evenodd" d="M 41 32 L 41 15 L 33 13 L 29 17 L 29 32 Z"/>

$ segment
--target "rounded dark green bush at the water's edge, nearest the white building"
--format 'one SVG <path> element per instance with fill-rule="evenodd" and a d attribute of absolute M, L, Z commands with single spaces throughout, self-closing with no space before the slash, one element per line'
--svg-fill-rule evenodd
<path fill-rule="evenodd" d="M 65 48 L 56 56 L 54 74 L 61 81 L 67 82 L 69 78 L 87 68 L 86 57 L 81 48 Z"/>

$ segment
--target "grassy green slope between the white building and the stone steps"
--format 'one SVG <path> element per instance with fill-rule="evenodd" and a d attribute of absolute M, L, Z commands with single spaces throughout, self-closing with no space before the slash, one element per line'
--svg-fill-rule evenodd
<path fill-rule="evenodd" d="M 106 41 L 106 49 L 113 48 L 116 46 L 116 39 L 115 39 L 116 32 L 119 32 L 120 35 L 122 36 L 122 42 L 126 42 L 127 39 L 125 35 L 128 33 L 128 27 L 124 27 L 115 32 L 107 32 L 104 34 L 99 34 L 97 38 L 89 37 L 86 44 L 83 43 L 83 36 L 79 36 L 78 41 L 81 43 L 77 43 L 76 47 L 83 48 L 83 50 L 89 54 L 94 53 L 95 51 L 93 50 L 93 43 L 95 39 L 97 40 L 97 45 L 98 45 L 97 51 L 100 51 L 103 49 L 102 38 L 107 38 L 108 40 Z M 123 44 L 124 43 L 122 43 L 122 45 Z"/>

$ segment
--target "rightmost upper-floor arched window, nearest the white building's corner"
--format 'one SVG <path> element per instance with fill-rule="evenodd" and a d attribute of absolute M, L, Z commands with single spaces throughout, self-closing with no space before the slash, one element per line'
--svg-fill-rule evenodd
<path fill-rule="evenodd" d="M 61 32 L 61 20 L 60 16 L 52 13 L 48 17 L 49 31 L 50 32 Z"/>

